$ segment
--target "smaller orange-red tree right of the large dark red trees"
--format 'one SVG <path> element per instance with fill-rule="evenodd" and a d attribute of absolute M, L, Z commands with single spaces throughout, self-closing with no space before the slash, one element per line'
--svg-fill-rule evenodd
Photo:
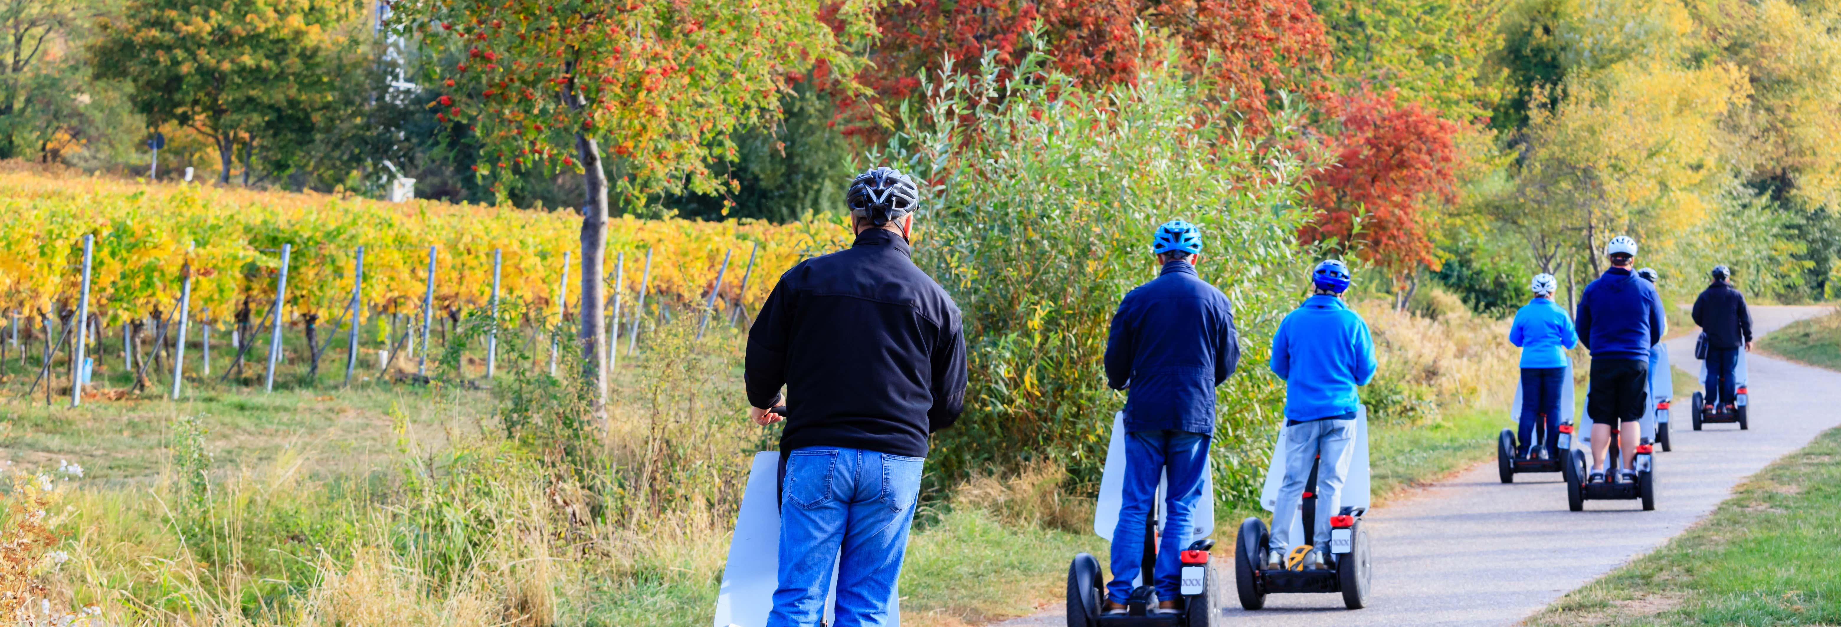
<path fill-rule="evenodd" d="M 1316 217 L 1298 239 L 1335 241 L 1395 278 L 1418 265 L 1436 268 L 1421 213 L 1427 200 L 1456 200 L 1458 123 L 1418 103 L 1399 105 L 1392 92 L 1364 88 L 1324 103 L 1340 125 L 1326 138 L 1337 162 L 1313 177 Z"/>

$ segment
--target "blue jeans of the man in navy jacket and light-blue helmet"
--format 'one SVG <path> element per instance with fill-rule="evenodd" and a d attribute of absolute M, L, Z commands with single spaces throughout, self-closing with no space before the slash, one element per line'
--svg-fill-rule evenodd
<path fill-rule="evenodd" d="M 1206 498 L 1202 495 L 1202 467 L 1208 462 L 1208 434 L 1186 430 L 1141 430 L 1125 434 L 1125 487 L 1119 493 L 1119 524 L 1112 528 L 1112 583 L 1106 596 L 1125 603 L 1132 596 L 1132 579 L 1143 568 L 1145 519 L 1156 500 L 1156 484 L 1169 465 L 1169 485 L 1164 495 L 1162 542 L 1158 542 L 1154 576 L 1158 599 L 1176 599 L 1180 592 L 1182 550 L 1189 548 L 1189 515 Z"/>

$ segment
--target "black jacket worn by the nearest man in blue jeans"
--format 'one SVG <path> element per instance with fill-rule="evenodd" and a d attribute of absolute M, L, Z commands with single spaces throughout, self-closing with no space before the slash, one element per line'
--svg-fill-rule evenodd
<path fill-rule="evenodd" d="M 758 408 L 786 386 L 782 452 L 924 458 L 928 434 L 965 406 L 959 307 L 913 265 L 902 235 L 867 230 L 781 276 L 749 329 L 744 379 Z"/>

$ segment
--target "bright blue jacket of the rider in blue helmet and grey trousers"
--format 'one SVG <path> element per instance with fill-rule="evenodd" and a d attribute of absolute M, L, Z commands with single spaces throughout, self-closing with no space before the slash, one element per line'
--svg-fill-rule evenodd
<path fill-rule="evenodd" d="M 1285 379 L 1285 419 L 1340 417 L 1362 405 L 1375 377 L 1375 342 L 1362 316 L 1337 296 L 1311 296 L 1272 336 L 1272 373 Z"/>

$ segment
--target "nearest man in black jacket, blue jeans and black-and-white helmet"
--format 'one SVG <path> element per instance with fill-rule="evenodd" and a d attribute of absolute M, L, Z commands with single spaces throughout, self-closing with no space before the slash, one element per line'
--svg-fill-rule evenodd
<path fill-rule="evenodd" d="M 889 621 L 928 436 L 965 405 L 959 309 L 909 257 L 917 195 L 889 167 L 858 175 L 856 243 L 786 270 L 749 331 L 747 414 L 786 419 L 768 627 L 817 625 L 832 561 L 832 625 Z"/>

